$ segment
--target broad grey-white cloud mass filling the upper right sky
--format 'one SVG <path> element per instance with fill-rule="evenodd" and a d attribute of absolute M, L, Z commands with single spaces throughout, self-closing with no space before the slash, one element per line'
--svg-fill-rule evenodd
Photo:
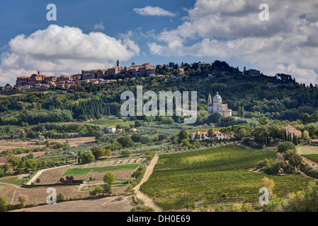
<path fill-rule="evenodd" d="M 242 59 L 268 75 L 290 73 L 297 81 L 317 83 L 318 2 L 268 0 L 269 21 L 259 20 L 262 3 L 197 0 L 178 28 L 164 30 L 148 44 L 150 52 Z"/>

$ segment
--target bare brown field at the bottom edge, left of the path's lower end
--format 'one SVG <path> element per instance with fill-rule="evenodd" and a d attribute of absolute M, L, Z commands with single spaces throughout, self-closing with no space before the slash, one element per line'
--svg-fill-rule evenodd
<path fill-rule="evenodd" d="M 110 196 L 25 208 L 15 212 L 130 212 L 132 207 L 132 196 Z"/>

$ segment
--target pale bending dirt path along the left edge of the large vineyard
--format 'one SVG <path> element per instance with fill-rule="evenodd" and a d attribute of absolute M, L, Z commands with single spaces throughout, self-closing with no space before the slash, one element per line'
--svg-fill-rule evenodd
<path fill-rule="evenodd" d="M 154 209 L 155 212 L 161 212 L 163 209 L 161 209 L 159 206 L 154 203 L 152 198 L 149 198 L 149 196 L 145 195 L 142 191 L 140 191 L 140 186 L 144 184 L 144 182 L 147 182 L 152 172 L 154 172 L 154 166 L 157 164 L 159 160 L 159 155 L 155 155 L 154 158 L 150 161 L 149 165 L 146 168 L 146 171 L 144 172 L 144 177 L 142 177 L 142 180 L 139 184 L 137 184 L 134 188 L 135 194 L 137 198 L 141 198 L 144 201 L 144 205 L 149 206 Z"/>

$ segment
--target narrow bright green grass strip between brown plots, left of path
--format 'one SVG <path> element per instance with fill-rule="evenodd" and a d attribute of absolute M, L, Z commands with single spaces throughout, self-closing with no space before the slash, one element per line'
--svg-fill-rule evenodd
<path fill-rule="evenodd" d="M 128 164 L 128 165 L 115 165 L 107 167 L 91 167 L 91 168 L 71 168 L 63 174 L 63 176 L 71 175 L 84 175 L 92 172 L 111 172 L 111 171 L 120 171 L 120 170 L 130 170 L 136 169 L 139 164 Z"/>

